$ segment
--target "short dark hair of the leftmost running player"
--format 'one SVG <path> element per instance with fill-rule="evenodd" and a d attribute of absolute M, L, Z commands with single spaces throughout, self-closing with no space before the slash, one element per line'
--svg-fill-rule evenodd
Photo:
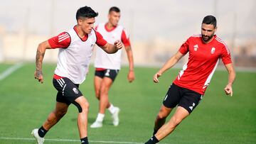
<path fill-rule="evenodd" d="M 93 9 L 89 6 L 83 6 L 80 9 L 78 9 L 75 18 L 78 21 L 79 18 L 95 18 L 97 15 L 98 13 L 93 11 Z"/>

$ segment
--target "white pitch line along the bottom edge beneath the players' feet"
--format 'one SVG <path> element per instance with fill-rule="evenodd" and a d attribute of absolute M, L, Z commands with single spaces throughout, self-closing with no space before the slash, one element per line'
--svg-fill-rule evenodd
<path fill-rule="evenodd" d="M 35 140 L 35 138 L 5 138 L 0 137 L 0 140 Z M 80 142 L 80 140 L 70 139 L 46 139 L 46 141 L 65 141 L 65 142 Z M 121 142 L 121 141 L 103 141 L 103 140 L 89 140 L 90 143 L 122 143 L 122 144 L 143 144 L 137 142 Z"/>

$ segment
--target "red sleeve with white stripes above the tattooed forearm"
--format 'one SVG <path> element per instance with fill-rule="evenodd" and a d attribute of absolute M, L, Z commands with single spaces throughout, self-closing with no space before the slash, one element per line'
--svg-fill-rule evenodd
<path fill-rule="evenodd" d="M 50 38 L 48 43 L 50 44 L 50 48 L 68 48 L 71 43 L 71 38 L 67 32 L 63 32 Z"/>

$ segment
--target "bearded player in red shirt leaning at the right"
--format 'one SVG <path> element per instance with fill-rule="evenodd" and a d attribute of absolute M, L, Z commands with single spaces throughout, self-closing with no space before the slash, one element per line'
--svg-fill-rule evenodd
<path fill-rule="evenodd" d="M 201 35 L 192 35 L 181 48 L 172 56 L 161 69 L 154 74 L 154 82 L 166 70 L 173 67 L 183 55 L 188 55 L 188 62 L 178 73 L 171 87 L 164 97 L 163 104 L 156 116 L 154 134 L 146 144 L 158 143 L 174 131 L 184 118 L 186 118 L 198 105 L 206 92 L 210 79 L 221 59 L 228 70 L 228 84 L 225 94 L 233 95 L 232 84 L 235 81 L 235 70 L 230 57 L 228 46 L 220 40 L 217 31 L 217 21 L 214 16 L 206 16 L 201 24 Z M 165 123 L 171 110 L 177 107 L 171 119 Z"/>

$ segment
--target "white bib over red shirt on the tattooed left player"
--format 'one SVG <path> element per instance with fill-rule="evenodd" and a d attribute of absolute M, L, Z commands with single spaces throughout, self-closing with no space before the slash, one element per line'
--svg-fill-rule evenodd
<path fill-rule="evenodd" d="M 81 84 L 85 80 L 95 43 L 103 46 L 107 41 L 94 30 L 80 38 L 74 26 L 70 31 L 50 38 L 48 43 L 50 48 L 60 48 L 53 77 L 68 77 L 74 84 Z"/>

